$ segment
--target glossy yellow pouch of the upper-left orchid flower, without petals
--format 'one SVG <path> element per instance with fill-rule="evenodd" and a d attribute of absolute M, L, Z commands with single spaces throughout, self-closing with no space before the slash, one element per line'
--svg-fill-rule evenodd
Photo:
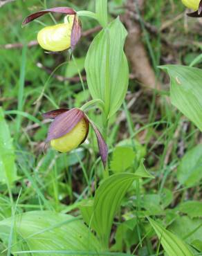
<path fill-rule="evenodd" d="M 37 35 L 39 45 L 47 51 L 59 52 L 71 48 L 71 32 L 74 15 L 66 23 L 42 28 Z"/>

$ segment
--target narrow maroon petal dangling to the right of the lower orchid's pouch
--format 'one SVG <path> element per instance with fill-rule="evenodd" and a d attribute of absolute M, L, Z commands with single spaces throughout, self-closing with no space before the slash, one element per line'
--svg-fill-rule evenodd
<path fill-rule="evenodd" d="M 107 163 L 107 156 L 108 156 L 107 144 L 105 143 L 104 138 L 102 137 L 102 134 L 100 133 L 98 128 L 93 124 L 93 122 L 91 120 L 89 120 L 89 122 L 91 123 L 91 126 L 93 127 L 93 130 L 95 131 L 95 134 L 96 134 L 96 137 L 97 137 L 97 140 L 98 140 L 98 147 L 99 147 L 100 156 L 101 156 L 104 168 L 105 168 L 106 163 Z"/>

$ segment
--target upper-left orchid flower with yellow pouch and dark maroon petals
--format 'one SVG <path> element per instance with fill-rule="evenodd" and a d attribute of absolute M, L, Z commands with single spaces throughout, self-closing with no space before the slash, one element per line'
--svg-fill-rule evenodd
<path fill-rule="evenodd" d="M 54 26 L 46 26 L 39 31 L 37 41 L 45 50 L 51 52 L 65 51 L 68 48 L 72 50 L 81 37 L 81 22 L 77 17 L 75 10 L 66 7 L 57 7 L 35 12 L 26 17 L 22 25 L 28 24 L 30 21 L 45 15 L 48 12 L 59 12 L 66 15 L 63 24 Z"/>

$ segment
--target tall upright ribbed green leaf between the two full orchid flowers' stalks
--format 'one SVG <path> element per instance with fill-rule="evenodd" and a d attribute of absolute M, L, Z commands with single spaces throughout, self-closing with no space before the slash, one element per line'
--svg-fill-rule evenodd
<path fill-rule="evenodd" d="M 127 92 L 129 68 L 123 51 L 127 30 L 117 18 L 93 40 L 86 56 L 85 69 L 93 99 L 101 99 L 112 116 Z"/>

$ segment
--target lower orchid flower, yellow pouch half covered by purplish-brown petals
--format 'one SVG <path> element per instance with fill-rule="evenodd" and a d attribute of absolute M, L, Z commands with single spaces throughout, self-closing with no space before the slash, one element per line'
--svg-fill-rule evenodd
<path fill-rule="evenodd" d="M 70 152 L 84 143 L 89 134 L 89 124 L 95 131 L 102 163 L 107 163 L 108 149 L 102 134 L 80 109 L 56 109 L 44 113 L 44 118 L 54 119 L 48 129 L 46 142 L 59 152 Z"/>

